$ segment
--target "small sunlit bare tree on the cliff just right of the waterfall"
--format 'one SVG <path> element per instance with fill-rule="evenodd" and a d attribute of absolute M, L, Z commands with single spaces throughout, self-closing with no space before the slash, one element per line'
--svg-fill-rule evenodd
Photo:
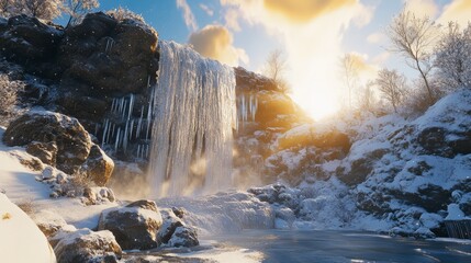
<path fill-rule="evenodd" d="M 268 55 L 263 73 L 273 80 L 278 89 L 284 93 L 288 93 L 291 90 L 288 81 L 284 79 L 287 69 L 288 62 L 282 50 L 274 49 Z"/>

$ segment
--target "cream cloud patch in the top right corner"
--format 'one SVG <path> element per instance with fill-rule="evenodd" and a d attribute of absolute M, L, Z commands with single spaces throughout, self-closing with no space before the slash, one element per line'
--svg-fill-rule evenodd
<path fill-rule="evenodd" d="M 471 21 L 471 1 L 453 0 L 445 5 L 438 22 L 447 24 L 449 21 L 458 22 L 461 26 L 467 26 Z"/>

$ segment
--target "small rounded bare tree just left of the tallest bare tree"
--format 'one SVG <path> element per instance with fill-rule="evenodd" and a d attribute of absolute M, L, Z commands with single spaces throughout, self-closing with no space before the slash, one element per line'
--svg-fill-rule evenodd
<path fill-rule="evenodd" d="M 378 72 L 375 84 L 384 99 L 391 102 L 394 112 L 397 113 L 397 106 L 403 102 L 406 92 L 405 77 L 396 70 L 381 69 Z"/>

